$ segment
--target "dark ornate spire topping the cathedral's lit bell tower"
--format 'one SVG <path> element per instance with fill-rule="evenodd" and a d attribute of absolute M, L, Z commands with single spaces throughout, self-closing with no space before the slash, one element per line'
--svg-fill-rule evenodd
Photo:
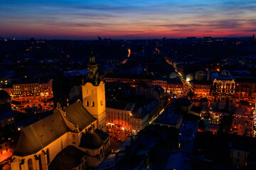
<path fill-rule="evenodd" d="M 90 55 L 90 62 L 87 65 L 89 69 L 87 81 L 92 83 L 93 85 L 99 85 L 100 79 L 99 79 L 99 73 L 97 72 L 97 63 L 95 62 L 95 56 L 93 54 Z"/>

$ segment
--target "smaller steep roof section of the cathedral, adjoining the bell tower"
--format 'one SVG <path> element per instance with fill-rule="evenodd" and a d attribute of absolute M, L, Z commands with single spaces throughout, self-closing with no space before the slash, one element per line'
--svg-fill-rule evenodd
<path fill-rule="evenodd" d="M 97 120 L 86 110 L 80 100 L 65 108 L 65 111 L 65 117 L 73 124 L 78 125 L 80 130 L 85 129 L 88 125 Z"/>

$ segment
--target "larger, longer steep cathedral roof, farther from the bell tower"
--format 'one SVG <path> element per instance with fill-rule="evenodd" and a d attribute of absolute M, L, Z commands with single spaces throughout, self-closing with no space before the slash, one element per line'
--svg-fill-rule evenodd
<path fill-rule="evenodd" d="M 24 157 L 35 154 L 58 137 L 68 132 L 68 127 L 58 111 L 21 130 L 14 155 Z"/>

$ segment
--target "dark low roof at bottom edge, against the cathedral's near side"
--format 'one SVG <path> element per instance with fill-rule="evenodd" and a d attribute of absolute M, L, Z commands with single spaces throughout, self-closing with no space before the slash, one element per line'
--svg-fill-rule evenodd
<path fill-rule="evenodd" d="M 70 170 L 79 166 L 85 157 L 85 152 L 80 149 L 68 146 L 56 155 L 53 161 L 48 166 L 49 170 Z"/>

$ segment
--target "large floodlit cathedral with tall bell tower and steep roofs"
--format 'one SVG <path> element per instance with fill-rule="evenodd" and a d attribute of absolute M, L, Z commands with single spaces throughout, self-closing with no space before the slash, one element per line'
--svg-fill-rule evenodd
<path fill-rule="evenodd" d="M 21 129 L 11 169 L 86 169 L 99 165 L 110 149 L 106 133 L 105 84 L 100 81 L 95 57 L 90 56 L 82 101 Z"/>

